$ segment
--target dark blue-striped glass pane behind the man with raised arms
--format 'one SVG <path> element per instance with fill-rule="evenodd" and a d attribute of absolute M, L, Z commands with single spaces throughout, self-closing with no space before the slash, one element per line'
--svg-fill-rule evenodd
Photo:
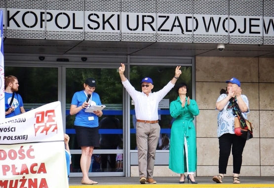
<path fill-rule="evenodd" d="M 153 80 L 154 88 L 152 92 L 161 90 L 175 75 L 175 66 L 172 67 L 157 67 L 157 66 L 130 66 L 130 83 L 137 91 L 142 91 L 141 81 L 145 77 L 150 77 Z M 188 85 L 188 94 L 192 98 L 192 67 L 181 67 L 182 74 L 176 84 L 184 82 Z M 169 112 L 169 104 L 175 100 L 178 94 L 175 92 L 175 87 L 162 100 L 163 107 L 159 107 L 159 125 L 161 127 L 160 138 L 157 149 L 169 149 L 170 128 L 173 122 Z M 131 99 L 132 100 L 132 99 Z M 161 106 L 161 105 L 159 105 Z M 134 105 L 130 105 L 130 149 L 136 149 L 136 118 Z"/>

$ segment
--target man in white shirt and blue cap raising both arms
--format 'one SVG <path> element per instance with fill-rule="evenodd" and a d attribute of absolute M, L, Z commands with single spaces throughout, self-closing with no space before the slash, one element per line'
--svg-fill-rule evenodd
<path fill-rule="evenodd" d="M 175 69 L 175 76 L 158 92 L 152 93 L 153 81 L 145 77 L 141 81 L 142 92 L 138 92 L 124 76 L 125 66 L 121 63 L 119 75 L 122 84 L 134 100 L 136 114 L 136 142 L 138 149 L 138 166 L 140 183 L 156 184 L 153 179 L 155 153 L 159 140 L 160 126 L 158 124 L 158 104 L 161 99 L 174 87 L 182 74 L 181 66 Z"/>

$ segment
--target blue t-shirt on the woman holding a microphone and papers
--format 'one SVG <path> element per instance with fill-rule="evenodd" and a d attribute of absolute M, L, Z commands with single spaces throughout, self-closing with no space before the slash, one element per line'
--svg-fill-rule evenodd
<path fill-rule="evenodd" d="M 86 101 L 86 98 L 87 95 L 84 93 L 84 91 L 76 92 L 72 97 L 72 105 L 76 105 L 77 107 L 79 107 Z M 90 97 L 89 103 L 93 103 L 95 105 L 102 105 L 99 94 L 93 92 Z M 86 113 L 84 110 L 85 109 L 81 109 L 76 114 L 74 125 L 90 128 L 98 127 L 98 116 L 94 113 Z"/>

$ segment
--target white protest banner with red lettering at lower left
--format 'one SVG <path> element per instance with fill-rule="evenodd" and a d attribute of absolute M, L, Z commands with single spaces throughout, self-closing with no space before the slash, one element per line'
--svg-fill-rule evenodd
<path fill-rule="evenodd" d="M 59 101 L 0 120 L 0 188 L 69 188 Z"/>

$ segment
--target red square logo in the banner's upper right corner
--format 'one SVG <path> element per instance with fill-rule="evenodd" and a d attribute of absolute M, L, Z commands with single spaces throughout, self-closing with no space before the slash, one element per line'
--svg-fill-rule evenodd
<path fill-rule="evenodd" d="M 49 132 L 57 133 L 57 122 L 55 121 L 54 110 L 40 111 L 35 113 L 36 124 L 34 124 L 35 136 Z"/>

